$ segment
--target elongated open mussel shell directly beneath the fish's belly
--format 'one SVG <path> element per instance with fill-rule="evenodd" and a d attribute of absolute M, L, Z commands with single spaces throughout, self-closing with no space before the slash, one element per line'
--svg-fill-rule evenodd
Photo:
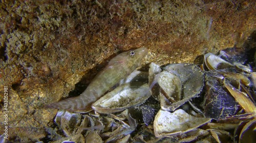
<path fill-rule="evenodd" d="M 99 113 L 113 113 L 144 103 L 151 96 L 148 84 L 122 84 L 112 92 L 104 95 L 92 108 Z"/>

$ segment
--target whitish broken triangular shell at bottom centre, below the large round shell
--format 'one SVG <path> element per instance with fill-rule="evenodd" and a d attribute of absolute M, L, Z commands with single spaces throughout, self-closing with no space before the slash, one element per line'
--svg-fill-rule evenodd
<path fill-rule="evenodd" d="M 209 118 L 188 115 L 183 109 L 173 113 L 160 109 L 154 120 L 154 132 L 156 137 L 172 137 L 194 130 L 210 121 Z"/>

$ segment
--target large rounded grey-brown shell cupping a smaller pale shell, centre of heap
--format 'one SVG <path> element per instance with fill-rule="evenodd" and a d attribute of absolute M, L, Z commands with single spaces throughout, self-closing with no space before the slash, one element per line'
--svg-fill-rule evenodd
<path fill-rule="evenodd" d="M 171 87 L 176 87 L 176 93 L 180 90 L 180 81 L 182 83 L 181 95 L 176 94 L 176 97 L 172 98 L 166 97 L 163 93 L 160 93 L 161 108 L 167 111 L 174 111 L 176 108 L 190 100 L 191 98 L 197 97 L 197 95 L 202 91 L 204 84 L 203 73 L 194 64 L 169 64 L 165 67 L 165 71 L 175 75 L 172 79 L 177 81 Z M 178 77 L 180 80 L 176 79 Z M 164 81 L 164 80 L 163 80 Z M 168 82 L 162 82 L 160 80 L 159 85 L 165 87 Z M 167 86 L 166 86 L 167 87 Z M 170 100 L 171 99 L 171 100 Z"/>

